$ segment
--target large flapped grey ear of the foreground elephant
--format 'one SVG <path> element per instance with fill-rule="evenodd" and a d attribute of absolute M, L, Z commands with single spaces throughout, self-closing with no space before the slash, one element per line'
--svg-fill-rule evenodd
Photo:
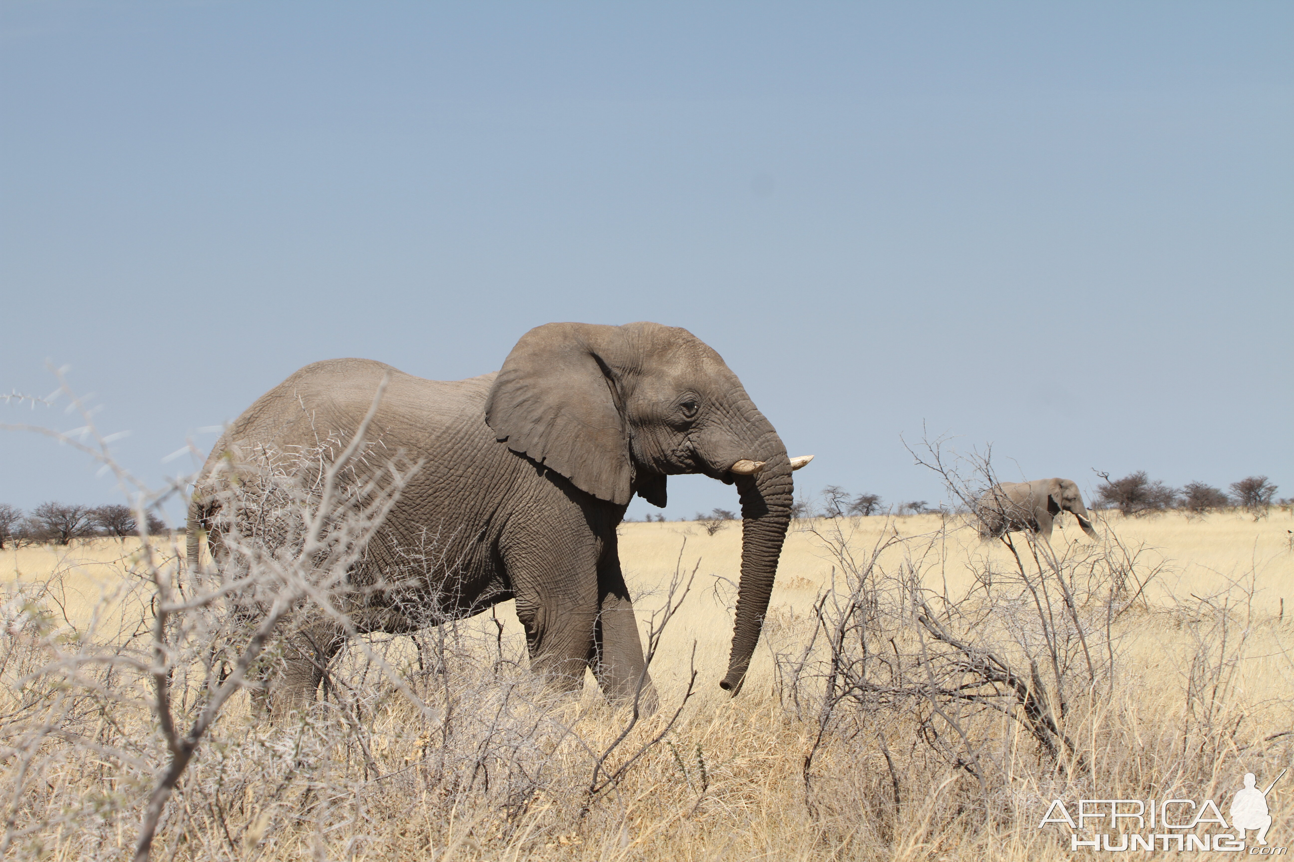
<path fill-rule="evenodd" d="M 615 372 L 604 354 L 620 328 L 547 323 L 521 336 L 485 402 L 499 442 L 581 491 L 629 503 L 633 464 Z"/>

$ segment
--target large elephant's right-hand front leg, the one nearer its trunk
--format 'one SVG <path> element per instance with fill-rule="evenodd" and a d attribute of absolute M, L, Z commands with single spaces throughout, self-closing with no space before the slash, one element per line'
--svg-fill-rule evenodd
<path fill-rule="evenodd" d="M 656 686 L 647 672 L 638 619 L 619 560 L 612 558 L 599 570 L 598 593 L 598 620 L 589 667 L 611 702 L 637 702 L 639 713 L 652 715 L 659 704 Z"/>

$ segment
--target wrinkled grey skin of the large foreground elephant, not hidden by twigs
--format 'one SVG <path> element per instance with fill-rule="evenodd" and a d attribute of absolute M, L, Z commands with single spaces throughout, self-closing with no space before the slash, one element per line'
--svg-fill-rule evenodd
<path fill-rule="evenodd" d="M 234 445 L 285 450 L 327 434 L 348 439 L 386 373 L 367 439 L 423 460 L 384 523 L 386 543 L 413 547 L 424 531 L 439 534 L 437 554 L 458 570 L 424 578 L 421 596 L 369 594 L 348 609 L 360 631 L 418 628 L 408 609 L 436 594 L 448 596 L 440 613 L 450 616 L 515 598 L 533 669 L 575 690 L 590 667 L 606 695 L 621 702 L 642 684 L 642 704 L 652 710 L 616 526 L 635 492 L 664 507 L 666 476 L 704 473 L 735 483 L 741 501 L 736 623 L 719 682 L 740 690 L 791 518 L 792 479 L 782 439 L 714 350 L 656 323 L 550 323 L 525 333 L 501 371 L 468 380 L 424 380 L 367 359 L 318 362 L 239 416 L 202 476 Z M 766 465 L 754 476 L 731 473 L 744 459 Z M 199 481 L 190 556 L 215 514 L 210 491 Z M 215 544 L 212 554 L 220 558 Z M 383 556 L 370 553 L 365 565 Z M 371 583 L 374 573 L 352 579 Z M 283 677 L 270 694 L 276 712 L 313 699 L 343 635 L 313 619 L 287 640 Z"/>

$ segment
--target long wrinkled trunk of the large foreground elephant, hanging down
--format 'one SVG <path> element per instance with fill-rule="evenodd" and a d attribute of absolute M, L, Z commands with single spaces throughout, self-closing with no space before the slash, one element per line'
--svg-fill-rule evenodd
<path fill-rule="evenodd" d="M 719 688 L 736 695 L 741 690 L 751 657 L 760 641 L 763 615 L 773 594 L 778 557 L 791 523 L 791 460 L 780 447 L 763 457 L 765 467 L 754 476 L 738 476 L 741 496 L 741 580 L 738 587 L 736 623 L 727 676 Z"/>

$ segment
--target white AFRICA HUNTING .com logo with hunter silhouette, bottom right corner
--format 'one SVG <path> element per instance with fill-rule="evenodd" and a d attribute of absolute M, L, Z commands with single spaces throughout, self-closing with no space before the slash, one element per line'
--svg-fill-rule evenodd
<path fill-rule="evenodd" d="M 1077 809 L 1074 803 L 1066 808 L 1057 799 L 1043 814 L 1038 828 L 1048 823 L 1068 826 L 1070 850 L 1247 850 L 1249 856 L 1284 856 L 1286 848 L 1267 844 L 1267 830 L 1272 826 L 1267 795 L 1285 772 L 1282 769 L 1264 790 L 1258 788 L 1254 773 L 1245 773 L 1245 786 L 1232 796 L 1227 810 L 1229 825 L 1211 799 L 1202 803 L 1190 799 L 1080 799 Z M 1197 834 L 1201 827 L 1209 831 Z M 1253 846 L 1245 843 L 1250 832 L 1255 841 Z"/>

